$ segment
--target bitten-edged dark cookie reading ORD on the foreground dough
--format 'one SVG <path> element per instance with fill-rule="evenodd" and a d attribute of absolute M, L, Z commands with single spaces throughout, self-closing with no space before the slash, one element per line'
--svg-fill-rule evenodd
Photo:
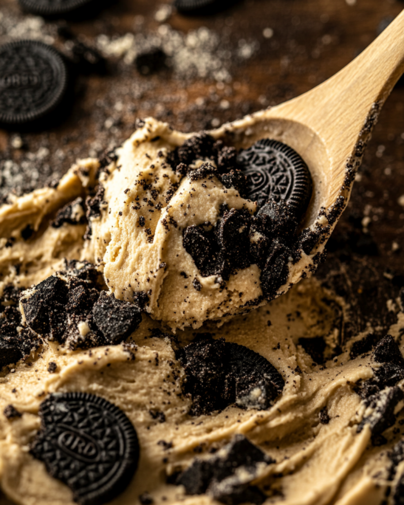
<path fill-rule="evenodd" d="M 73 491 L 80 505 L 114 499 L 131 481 L 139 459 L 136 430 L 104 398 L 58 393 L 41 403 L 33 456 Z"/>

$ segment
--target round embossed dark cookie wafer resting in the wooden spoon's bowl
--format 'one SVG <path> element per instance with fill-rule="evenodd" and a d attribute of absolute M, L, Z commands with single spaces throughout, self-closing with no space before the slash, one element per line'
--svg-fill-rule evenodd
<path fill-rule="evenodd" d="M 237 159 L 248 180 L 247 198 L 261 208 L 269 199 L 284 200 L 296 215 L 303 214 L 312 195 L 312 177 L 306 163 L 288 145 L 264 138 Z"/>

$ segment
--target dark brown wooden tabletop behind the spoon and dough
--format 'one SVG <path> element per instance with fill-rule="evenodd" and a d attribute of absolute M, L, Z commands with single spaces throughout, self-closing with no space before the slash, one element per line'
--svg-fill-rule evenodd
<path fill-rule="evenodd" d="M 159 6 L 154 0 L 121 0 L 95 19 L 70 22 L 70 28 L 91 44 L 99 34 L 123 35 L 133 30 L 135 17 L 141 15 L 141 31 L 149 33 L 159 26 L 155 20 Z M 78 77 L 74 106 L 60 125 L 22 134 L 25 149 L 11 146 L 15 132 L 0 131 L 1 159 L 21 163 L 27 153 L 47 147 L 49 156 L 37 162 L 39 184 L 62 174 L 76 158 L 93 153 L 94 141 L 98 147 L 120 144 L 132 132 L 137 117 L 156 116 L 180 130 L 197 131 L 212 126 L 212 120 L 214 124 L 234 120 L 283 102 L 355 58 L 377 36 L 381 24 L 403 7 L 399 0 L 357 0 L 352 6 L 345 0 L 245 0 L 214 16 L 173 13 L 167 22 L 175 30 L 185 33 L 206 26 L 234 51 L 240 39 L 257 41 L 260 48 L 252 58 L 231 63 L 232 78 L 225 84 L 212 79 L 178 79 L 169 70 L 142 76 L 135 65 L 110 58 L 107 75 Z M 3 0 L 2 12 L 24 19 L 15 0 Z M 270 39 L 263 35 L 266 27 L 274 31 Z M 0 41 L 6 38 L 0 36 Z M 55 45 L 64 50 L 60 38 L 56 37 Z M 222 100 L 227 100 L 227 108 L 220 106 Z M 122 103 L 120 111 L 116 110 L 118 102 Z M 331 249 L 340 248 L 349 234 L 363 234 L 361 221 L 369 217 L 365 238 L 374 239 L 378 251 L 370 261 L 380 270 L 390 268 L 400 275 L 404 273 L 404 208 L 397 200 L 404 194 L 403 110 L 404 86 L 397 85 L 375 128 L 360 180 L 331 244 Z M 105 126 L 109 118 L 113 128 Z"/>

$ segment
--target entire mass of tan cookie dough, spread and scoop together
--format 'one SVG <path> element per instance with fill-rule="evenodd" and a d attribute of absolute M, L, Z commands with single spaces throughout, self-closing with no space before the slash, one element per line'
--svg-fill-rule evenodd
<path fill-rule="evenodd" d="M 288 281 L 303 280 L 283 296 L 266 303 L 257 264 L 201 275 L 184 230 L 210 229 L 223 204 L 242 219 L 257 209 L 215 160 L 173 170 L 188 137 L 149 119 L 57 187 L 0 208 L 0 502 L 73 504 L 30 447 L 41 402 L 76 391 L 137 431 L 138 469 L 114 503 L 396 503 L 402 300 L 388 301 L 388 335 L 374 315 L 355 329 L 338 281 L 310 278 L 332 228 L 313 202 L 288 259 Z M 244 346 L 235 371 L 230 344 Z"/>

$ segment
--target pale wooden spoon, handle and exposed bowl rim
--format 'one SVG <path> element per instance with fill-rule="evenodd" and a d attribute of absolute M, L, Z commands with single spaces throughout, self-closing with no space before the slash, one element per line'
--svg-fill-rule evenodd
<path fill-rule="evenodd" d="M 322 239 L 309 258 L 291 266 L 288 283 L 278 295 L 297 282 L 305 268 L 315 270 L 348 203 L 380 110 L 403 71 L 404 10 L 355 60 L 316 88 L 210 132 L 227 137 L 237 148 L 265 137 L 280 140 L 310 168 L 314 190 L 302 226 L 321 229 Z"/>

